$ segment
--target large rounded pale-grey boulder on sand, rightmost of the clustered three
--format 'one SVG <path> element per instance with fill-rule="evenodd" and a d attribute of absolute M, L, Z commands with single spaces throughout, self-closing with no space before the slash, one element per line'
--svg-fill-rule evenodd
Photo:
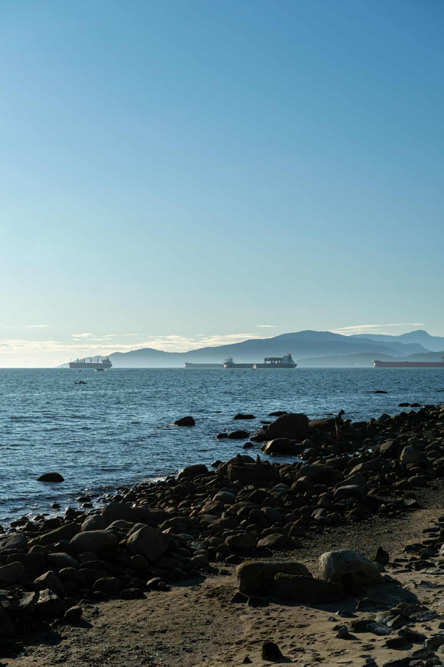
<path fill-rule="evenodd" d="M 318 578 L 342 584 L 346 592 L 384 583 L 377 564 L 351 549 L 322 554 Z"/>

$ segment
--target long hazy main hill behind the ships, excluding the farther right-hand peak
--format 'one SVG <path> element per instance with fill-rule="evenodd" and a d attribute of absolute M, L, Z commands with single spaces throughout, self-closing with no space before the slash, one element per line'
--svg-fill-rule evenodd
<path fill-rule="evenodd" d="M 371 340 L 365 336 L 358 338 L 342 336 L 332 331 L 308 330 L 282 333 L 273 338 L 255 338 L 230 345 L 200 348 L 190 352 L 163 352 L 153 348 L 141 348 L 132 352 L 114 352 L 109 355 L 109 359 L 114 368 L 174 368 L 183 366 L 184 362 L 221 364 L 227 357 L 232 357 L 238 364 L 262 362 L 264 357 L 282 357 L 289 352 L 295 360 L 335 358 L 349 354 L 369 354 L 373 360 L 382 359 L 383 355 L 405 358 L 410 354 L 427 354 L 429 350 L 416 342 L 403 343 L 397 340 L 385 342 Z M 304 366 L 307 365 L 304 363 Z"/>

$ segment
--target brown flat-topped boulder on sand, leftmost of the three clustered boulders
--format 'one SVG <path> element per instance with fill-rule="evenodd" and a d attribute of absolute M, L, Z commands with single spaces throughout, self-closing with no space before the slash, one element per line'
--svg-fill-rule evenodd
<path fill-rule="evenodd" d="M 294 576 L 312 576 L 305 565 L 294 561 L 264 563 L 246 560 L 236 568 L 239 590 L 248 596 L 266 594 L 272 590 L 274 578 L 280 572 Z"/>

